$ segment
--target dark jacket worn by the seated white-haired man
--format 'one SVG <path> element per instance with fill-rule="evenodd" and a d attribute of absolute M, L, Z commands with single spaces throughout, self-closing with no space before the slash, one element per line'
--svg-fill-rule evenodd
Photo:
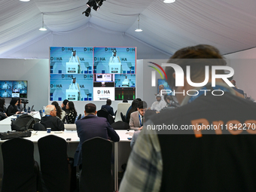
<path fill-rule="evenodd" d="M 64 123 L 58 117 L 53 116 L 44 116 L 41 117 L 40 123 L 44 125 L 44 127 L 51 128 L 52 131 L 63 131 L 64 130 Z"/>

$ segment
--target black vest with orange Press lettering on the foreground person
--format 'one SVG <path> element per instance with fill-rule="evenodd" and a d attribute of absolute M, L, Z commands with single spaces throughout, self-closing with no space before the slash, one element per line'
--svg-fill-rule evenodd
<path fill-rule="evenodd" d="M 154 125 L 177 128 L 157 135 L 163 159 L 160 191 L 255 191 L 255 111 L 253 102 L 224 93 L 157 114 Z M 184 125 L 216 129 L 181 130 Z M 235 126 L 241 130 L 228 129 Z"/>

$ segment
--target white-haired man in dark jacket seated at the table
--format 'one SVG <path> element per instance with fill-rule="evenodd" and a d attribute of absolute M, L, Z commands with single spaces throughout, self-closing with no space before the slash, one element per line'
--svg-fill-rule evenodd
<path fill-rule="evenodd" d="M 40 123 L 45 128 L 51 128 L 52 131 L 63 131 L 64 123 L 56 117 L 56 108 L 54 105 L 47 105 L 44 109 L 45 116 L 41 118 Z"/>

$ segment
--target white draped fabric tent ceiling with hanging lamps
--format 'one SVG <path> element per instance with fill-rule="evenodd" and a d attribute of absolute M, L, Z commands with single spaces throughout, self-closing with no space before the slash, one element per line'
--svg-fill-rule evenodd
<path fill-rule="evenodd" d="M 162 53 L 195 44 L 212 44 L 221 53 L 256 47 L 255 0 L 107 0 L 90 17 L 87 0 L 0 1 L 0 57 L 50 34 L 93 27 L 125 34 Z M 41 27 L 44 13 L 46 32 Z M 140 28 L 135 32 L 140 14 Z"/>

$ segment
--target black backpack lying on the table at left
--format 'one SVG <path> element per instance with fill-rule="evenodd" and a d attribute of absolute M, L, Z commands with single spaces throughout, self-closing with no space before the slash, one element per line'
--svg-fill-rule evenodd
<path fill-rule="evenodd" d="M 26 131 L 32 129 L 33 124 L 35 123 L 34 117 L 29 114 L 20 115 L 17 117 L 17 120 L 11 121 L 11 130 L 15 131 Z"/>

